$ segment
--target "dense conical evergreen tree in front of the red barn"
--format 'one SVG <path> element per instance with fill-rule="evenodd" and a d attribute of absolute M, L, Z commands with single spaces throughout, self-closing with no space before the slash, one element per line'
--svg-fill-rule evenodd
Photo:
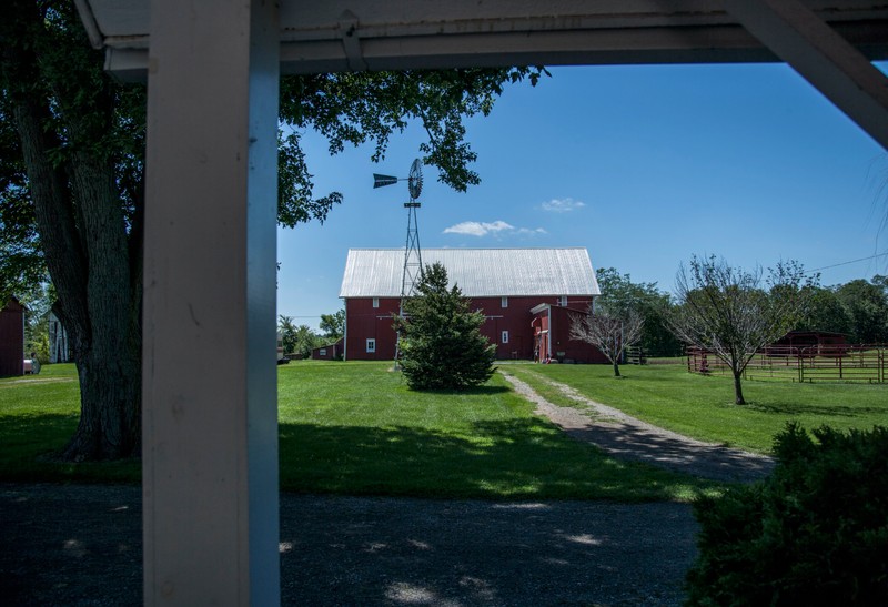
<path fill-rule="evenodd" d="M 404 303 L 406 320 L 395 320 L 410 387 L 460 390 L 490 380 L 496 346 L 481 334 L 484 315 L 468 308 L 457 285 L 447 289 L 444 266 L 426 266 L 417 292 Z"/>

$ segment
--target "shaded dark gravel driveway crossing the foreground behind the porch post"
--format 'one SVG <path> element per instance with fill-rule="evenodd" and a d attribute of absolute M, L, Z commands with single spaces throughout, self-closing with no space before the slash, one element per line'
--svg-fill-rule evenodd
<path fill-rule="evenodd" d="M 0 484 L 0 604 L 142 598 L 141 490 Z M 284 605 L 680 605 L 687 504 L 281 495 Z"/>

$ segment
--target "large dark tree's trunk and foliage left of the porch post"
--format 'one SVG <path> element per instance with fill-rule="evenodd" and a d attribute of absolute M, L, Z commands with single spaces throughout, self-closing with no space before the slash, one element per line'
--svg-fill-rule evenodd
<path fill-rule="evenodd" d="M 0 44 L 0 141 L 12 154 L 2 240 L 21 254 L 20 274 L 46 264 L 80 378 L 80 421 L 61 456 L 130 456 L 141 417 L 144 90 L 102 73 L 69 3 L 4 3 Z"/>

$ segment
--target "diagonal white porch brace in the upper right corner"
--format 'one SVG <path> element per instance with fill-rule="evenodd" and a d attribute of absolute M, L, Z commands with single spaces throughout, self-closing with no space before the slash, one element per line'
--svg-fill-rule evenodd
<path fill-rule="evenodd" d="M 888 78 L 798 0 L 726 0 L 749 32 L 888 150 Z"/>

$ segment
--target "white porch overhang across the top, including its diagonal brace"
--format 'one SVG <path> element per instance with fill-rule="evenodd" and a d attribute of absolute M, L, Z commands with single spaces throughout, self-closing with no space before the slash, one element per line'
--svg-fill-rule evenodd
<path fill-rule="evenodd" d="M 75 0 L 105 68 L 145 78 L 150 0 Z M 281 70 L 785 61 L 888 149 L 888 2 L 280 0 Z"/>

